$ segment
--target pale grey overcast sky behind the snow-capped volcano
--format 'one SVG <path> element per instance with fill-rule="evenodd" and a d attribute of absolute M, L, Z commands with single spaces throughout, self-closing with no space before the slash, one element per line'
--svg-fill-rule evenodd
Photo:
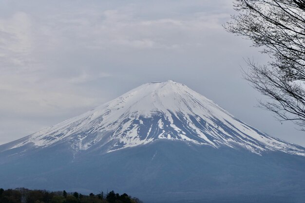
<path fill-rule="evenodd" d="M 256 108 L 227 33 L 232 0 L 0 0 L 0 144 L 88 111 L 143 83 L 172 79 L 244 122 L 305 146 L 305 133 Z"/>

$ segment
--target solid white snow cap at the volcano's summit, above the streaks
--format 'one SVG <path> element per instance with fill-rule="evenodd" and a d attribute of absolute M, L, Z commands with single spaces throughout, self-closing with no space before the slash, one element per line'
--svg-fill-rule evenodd
<path fill-rule="evenodd" d="M 172 80 L 143 84 L 95 110 L 103 111 L 105 108 L 120 111 L 121 115 L 137 114 L 144 117 L 150 117 L 155 113 L 165 113 L 170 117 L 169 111 L 192 113 L 191 111 L 204 110 L 206 113 L 216 113 L 220 109 L 211 100 L 194 92 L 186 85 Z"/>

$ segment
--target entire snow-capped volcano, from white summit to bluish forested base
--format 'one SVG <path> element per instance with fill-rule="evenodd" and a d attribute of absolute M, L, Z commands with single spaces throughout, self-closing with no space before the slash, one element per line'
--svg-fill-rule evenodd
<path fill-rule="evenodd" d="M 1 145 L 0 174 L 0 187 L 114 189 L 148 203 L 301 203 L 305 148 L 183 84 L 152 82 Z"/>

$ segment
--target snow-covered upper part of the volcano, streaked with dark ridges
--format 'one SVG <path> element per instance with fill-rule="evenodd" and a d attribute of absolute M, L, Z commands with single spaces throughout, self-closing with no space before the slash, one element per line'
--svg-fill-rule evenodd
<path fill-rule="evenodd" d="M 305 148 L 252 128 L 213 101 L 174 81 L 141 85 L 80 116 L 15 141 L 10 148 L 27 144 L 43 148 L 67 142 L 80 151 L 107 145 L 110 152 L 157 139 L 214 148 L 243 147 L 257 154 L 279 150 L 305 156 Z"/>

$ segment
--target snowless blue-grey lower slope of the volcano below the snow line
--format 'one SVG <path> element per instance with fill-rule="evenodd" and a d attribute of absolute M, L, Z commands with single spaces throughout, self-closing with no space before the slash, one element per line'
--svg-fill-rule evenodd
<path fill-rule="evenodd" d="M 144 203 L 304 203 L 305 158 L 279 151 L 213 148 L 159 139 L 73 157 L 62 143 L 0 163 L 0 187 L 95 194 L 126 192 Z M 0 153 L 0 160 L 2 153 Z"/>

